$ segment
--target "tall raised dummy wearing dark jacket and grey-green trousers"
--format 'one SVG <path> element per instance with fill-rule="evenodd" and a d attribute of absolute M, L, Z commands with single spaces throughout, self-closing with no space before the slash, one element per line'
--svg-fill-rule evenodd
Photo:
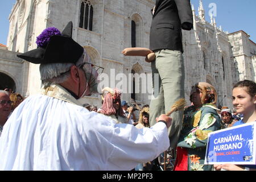
<path fill-rule="evenodd" d="M 151 62 L 155 96 L 150 102 L 151 126 L 155 124 L 155 118 L 167 113 L 175 101 L 185 98 L 181 28 L 191 30 L 193 27 L 190 0 L 156 0 L 152 15 L 150 50 L 156 58 Z M 154 81 L 155 74 L 159 74 L 158 83 Z M 173 122 L 168 134 L 171 147 L 176 148 L 183 111 L 174 112 L 171 117 Z"/>

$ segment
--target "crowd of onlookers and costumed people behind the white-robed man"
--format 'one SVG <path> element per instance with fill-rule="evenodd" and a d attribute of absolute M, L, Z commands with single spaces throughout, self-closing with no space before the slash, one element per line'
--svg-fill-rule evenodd
<path fill-rule="evenodd" d="M 102 106 L 83 104 L 86 110 L 106 115 L 114 123 L 133 125 L 137 129 L 150 128 L 150 107 L 140 107 L 136 102 L 129 106 L 127 101 L 121 101 L 121 92 L 118 89 L 104 88 L 102 90 Z M 19 93 L 10 93 L 0 90 L 0 136 L 7 119 L 15 108 L 22 103 L 24 98 Z M 238 82 L 233 89 L 233 105 L 230 109 L 226 106 L 217 109 L 217 93 L 214 87 L 205 82 L 199 82 L 191 89 L 191 106 L 184 110 L 183 127 L 177 142 L 175 152 L 174 171 L 210 171 L 239 170 L 241 166 L 233 164 L 204 165 L 205 151 L 207 148 L 208 133 L 228 127 L 242 125 L 256 121 L 256 84 L 244 80 Z M 232 111 L 233 110 L 233 111 Z M 135 111 L 139 118 L 136 119 Z M 139 163 L 134 167 L 136 171 L 158 169 L 157 160 Z M 155 166 L 155 167 L 152 167 Z M 253 170 L 256 166 L 245 166 Z M 244 167 L 244 168 L 245 168 Z"/>

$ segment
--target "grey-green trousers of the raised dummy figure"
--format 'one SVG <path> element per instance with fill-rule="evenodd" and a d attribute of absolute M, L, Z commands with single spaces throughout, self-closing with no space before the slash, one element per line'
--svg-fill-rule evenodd
<path fill-rule="evenodd" d="M 180 51 L 171 51 L 162 49 L 155 52 L 156 60 L 152 62 L 152 73 L 159 73 L 160 91 L 155 100 L 150 103 L 150 124 L 155 123 L 155 118 L 162 113 L 171 110 L 171 106 L 184 98 L 184 60 Z M 152 108 L 151 108 L 152 107 Z M 172 125 L 168 129 L 170 144 L 176 148 L 179 139 L 180 130 L 183 120 L 183 111 L 177 111 L 171 115 Z"/>

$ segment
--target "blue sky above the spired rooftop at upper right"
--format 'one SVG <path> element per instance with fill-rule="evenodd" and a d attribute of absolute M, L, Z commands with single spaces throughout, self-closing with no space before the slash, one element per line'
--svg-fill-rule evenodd
<path fill-rule="evenodd" d="M 243 30 L 256 43 L 256 1 L 255 0 L 203 0 L 205 19 L 210 22 L 209 12 L 216 6 L 217 27 L 229 33 Z M 198 15 L 199 0 L 191 0 Z M 212 6 L 212 4 L 214 4 Z M 210 7 L 209 7 L 210 6 Z"/>

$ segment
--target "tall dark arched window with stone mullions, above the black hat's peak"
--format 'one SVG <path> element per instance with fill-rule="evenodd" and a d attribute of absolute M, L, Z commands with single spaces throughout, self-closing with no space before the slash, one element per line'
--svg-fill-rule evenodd
<path fill-rule="evenodd" d="M 80 7 L 79 27 L 92 31 L 93 6 L 90 1 L 83 0 Z"/>

